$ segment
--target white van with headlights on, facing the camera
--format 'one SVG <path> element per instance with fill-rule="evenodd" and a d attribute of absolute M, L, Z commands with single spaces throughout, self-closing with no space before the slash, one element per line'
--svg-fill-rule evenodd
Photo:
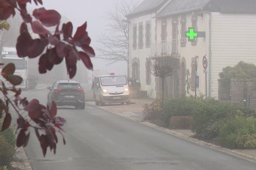
<path fill-rule="evenodd" d="M 125 75 L 95 76 L 93 83 L 94 101 L 96 105 L 105 103 L 126 103 L 130 105 L 130 90 Z"/>

